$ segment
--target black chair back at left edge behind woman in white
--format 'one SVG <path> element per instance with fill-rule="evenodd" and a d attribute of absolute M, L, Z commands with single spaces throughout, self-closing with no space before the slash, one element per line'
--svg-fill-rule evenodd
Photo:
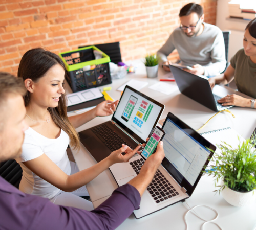
<path fill-rule="evenodd" d="M 7 180 L 11 185 L 18 188 L 20 180 L 22 180 L 22 168 L 16 160 L 7 160 L 0 163 L 0 176 Z"/>

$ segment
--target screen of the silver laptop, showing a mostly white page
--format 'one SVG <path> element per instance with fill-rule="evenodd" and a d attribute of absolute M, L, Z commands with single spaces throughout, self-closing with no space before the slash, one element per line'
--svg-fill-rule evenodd
<path fill-rule="evenodd" d="M 163 138 L 165 158 L 162 165 L 178 183 L 183 183 L 182 187 L 186 185 L 186 190 L 195 189 L 204 166 L 212 156 L 206 147 L 214 151 L 216 147 L 178 118 L 173 118 L 168 114 L 163 126 L 166 134 Z"/>

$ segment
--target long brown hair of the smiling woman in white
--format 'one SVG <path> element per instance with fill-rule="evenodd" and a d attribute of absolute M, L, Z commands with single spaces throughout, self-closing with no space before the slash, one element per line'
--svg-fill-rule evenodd
<path fill-rule="evenodd" d="M 35 48 L 27 51 L 23 55 L 18 67 L 18 77 L 23 78 L 24 81 L 29 78 L 33 82 L 37 82 L 41 77 L 46 75 L 50 68 L 57 64 L 61 65 L 65 70 L 64 63 L 58 55 L 44 48 Z M 29 105 L 30 97 L 30 92 L 27 91 L 27 94 L 24 96 L 25 106 Z M 58 106 L 48 108 L 48 111 L 51 114 L 53 122 L 68 134 L 70 145 L 75 149 L 79 149 L 79 136 L 68 119 L 66 103 L 67 97 L 66 94 L 63 94 L 59 98 Z"/>

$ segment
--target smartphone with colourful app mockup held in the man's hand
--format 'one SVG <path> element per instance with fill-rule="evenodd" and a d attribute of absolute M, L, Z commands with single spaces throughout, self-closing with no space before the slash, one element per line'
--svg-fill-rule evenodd
<path fill-rule="evenodd" d="M 141 156 L 144 159 L 147 159 L 150 157 L 152 154 L 154 154 L 157 150 L 157 145 L 160 141 L 162 141 L 163 137 L 165 135 L 165 131 L 161 129 L 159 126 L 157 126 L 150 139 L 147 141 L 143 151 L 141 152 Z"/>

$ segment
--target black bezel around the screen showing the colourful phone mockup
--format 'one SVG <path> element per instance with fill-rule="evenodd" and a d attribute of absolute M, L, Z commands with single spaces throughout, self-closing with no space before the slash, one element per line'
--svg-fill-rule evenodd
<path fill-rule="evenodd" d="M 161 108 L 161 110 L 160 110 L 160 112 L 159 112 L 159 114 L 158 114 L 158 117 L 157 117 L 157 119 L 156 119 L 156 121 L 155 121 L 155 123 L 154 123 L 154 125 L 153 125 L 153 127 L 152 127 L 152 129 L 151 129 L 151 131 L 150 131 L 150 133 L 148 133 L 148 136 L 150 136 L 151 133 L 153 132 L 154 128 L 156 127 L 156 125 L 157 125 L 157 123 L 158 123 L 158 121 L 159 121 L 159 119 L 160 119 L 162 113 L 163 113 L 163 110 L 164 110 L 164 108 L 165 108 L 165 105 L 163 105 L 163 104 L 161 104 L 161 103 L 155 101 L 154 99 L 152 99 L 152 98 L 150 98 L 150 97 L 148 97 L 148 96 L 146 96 L 146 95 L 140 93 L 138 90 L 136 90 L 136 89 L 130 87 L 129 85 L 126 85 L 126 86 L 125 86 L 125 88 L 124 88 L 124 90 L 123 90 L 123 94 L 122 94 L 122 96 L 121 96 L 121 98 L 120 98 L 120 101 L 122 100 L 122 97 L 123 97 L 124 92 L 125 92 L 126 89 L 130 89 L 130 90 L 134 91 L 134 93 L 140 95 L 141 97 L 145 98 L 145 99 L 148 100 L 148 101 L 153 102 L 154 104 L 158 105 L 158 106 Z M 118 109 L 118 106 L 119 106 L 119 104 L 120 104 L 120 101 L 119 101 L 119 103 L 118 103 L 118 105 L 117 105 L 117 107 L 116 107 L 116 110 Z M 115 116 L 115 113 L 116 113 L 116 112 L 113 113 L 112 121 L 114 121 L 117 125 L 119 125 L 125 132 L 129 133 L 129 134 L 130 134 L 135 140 L 137 140 L 140 144 L 146 142 L 146 140 L 143 140 L 143 139 L 142 139 L 140 136 L 138 136 L 135 132 L 133 132 L 131 129 L 129 129 L 129 128 L 126 127 L 123 123 L 121 123 L 119 120 L 117 120 L 117 119 L 114 117 L 114 116 Z"/>

